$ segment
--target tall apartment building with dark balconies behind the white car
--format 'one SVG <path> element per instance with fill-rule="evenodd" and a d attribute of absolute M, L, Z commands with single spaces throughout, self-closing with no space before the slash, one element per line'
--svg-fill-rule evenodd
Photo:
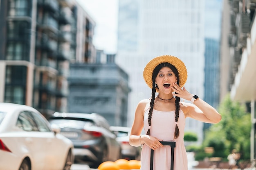
<path fill-rule="evenodd" d="M 0 4 L 0 102 L 67 111 L 70 62 L 93 62 L 95 22 L 75 0 Z"/>

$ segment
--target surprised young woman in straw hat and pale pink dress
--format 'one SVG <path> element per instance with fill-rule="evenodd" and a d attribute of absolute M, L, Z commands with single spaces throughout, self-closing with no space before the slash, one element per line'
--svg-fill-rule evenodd
<path fill-rule="evenodd" d="M 177 57 L 164 55 L 152 59 L 144 68 L 143 77 L 152 89 L 152 97 L 138 103 L 129 141 L 132 146 L 142 147 L 141 170 L 150 169 L 150 149 L 154 150 L 153 169 L 170 170 L 171 147 L 163 146 L 159 141 L 176 142 L 174 170 L 187 170 L 183 139 L 185 118 L 218 123 L 221 115 L 183 87 L 187 71 L 184 63 Z M 192 103 L 181 102 L 180 98 Z M 141 135 L 143 128 L 147 133 Z"/>

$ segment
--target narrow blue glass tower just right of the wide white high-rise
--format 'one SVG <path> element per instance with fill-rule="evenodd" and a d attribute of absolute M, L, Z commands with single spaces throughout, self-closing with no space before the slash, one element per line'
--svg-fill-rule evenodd
<path fill-rule="evenodd" d="M 220 102 L 220 36 L 222 0 L 205 1 L 204 101 L 218 110 Z M 204 130 L 211 126 L 204 123 Z"/>

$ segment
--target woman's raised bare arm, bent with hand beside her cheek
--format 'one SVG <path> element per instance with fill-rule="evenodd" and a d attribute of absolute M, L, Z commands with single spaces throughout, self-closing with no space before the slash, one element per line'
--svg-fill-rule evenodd
<path fill-rule="evenodd" d="M 174 96 L 178 96 L 189 101 L 193 97 L 193 94 L 189 93 L 185 87 L 182 89 L 179 85 L 177 85 L 177 83 L 173 83 L 171 88 L 177 93 L 173 94 Z M 186 117 L 206 123 L 218 123 L 221 120 L 220 113 L 218 113 L 216 109 L 200 98 L 195 100 L 194 104 L 184 103 L 183 106 L 182 111 L 184 111 Z"/>

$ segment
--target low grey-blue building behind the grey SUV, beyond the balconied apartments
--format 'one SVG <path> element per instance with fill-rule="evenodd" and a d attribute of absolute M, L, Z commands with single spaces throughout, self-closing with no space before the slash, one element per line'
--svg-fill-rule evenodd
<path fill-rule="evenodd" d="M 96 63 L 70 64 L 69 112 L 99 113 L 112 126 L 127 126 L 128 74 L 115 54 L 97 50 Z"/>

